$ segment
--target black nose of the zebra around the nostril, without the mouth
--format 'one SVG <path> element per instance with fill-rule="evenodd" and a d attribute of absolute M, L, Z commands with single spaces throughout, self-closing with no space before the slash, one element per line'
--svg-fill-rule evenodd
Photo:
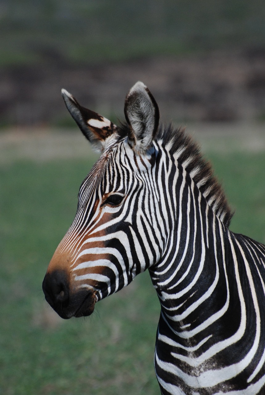
<path fill-rule="evenodd" d="M 55 309 L 56 312 L 65 308 L 69 304 L 69 283 L 66 273 L 63 271 L 53 271 L 46 273 L 42 289 L 46 301 Z"/>

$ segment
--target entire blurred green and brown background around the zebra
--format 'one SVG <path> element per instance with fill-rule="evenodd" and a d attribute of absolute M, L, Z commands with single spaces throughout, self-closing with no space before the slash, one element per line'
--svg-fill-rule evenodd
<path fill-rule="evenodd" d="M 148 273 L 86 320 L 61 320 L 43 297 L 97 158 L 60 90 L 117 122 L 143 81 L 212 162 L 231 230 L 265 243 L 264 4 L 1 0 L 0 42 L 0 393 L 159 394 Z"/>

